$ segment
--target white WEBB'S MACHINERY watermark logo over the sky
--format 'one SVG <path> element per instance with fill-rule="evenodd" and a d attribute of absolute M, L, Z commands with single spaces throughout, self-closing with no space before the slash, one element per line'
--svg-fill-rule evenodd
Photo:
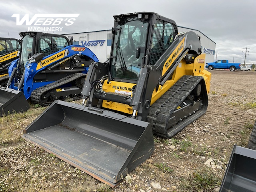
<path fill-rule="evenodd" d="M 74 24 L 74 21 L 80 14 L 34 14 L 34 16 L 29 19 L 29 14 L 25 14 L 20 18 L 20 14 L 15 13 L 12 17 L 16 17 L 16 25 L 23 25 L 25 23 L 28 27 L 28 31 L 62 31 L 63 27 L 70 26 Z"/>

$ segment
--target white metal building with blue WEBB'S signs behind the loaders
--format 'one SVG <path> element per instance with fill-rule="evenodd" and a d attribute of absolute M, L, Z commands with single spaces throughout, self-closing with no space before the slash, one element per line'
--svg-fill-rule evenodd
<path fill-rule="evenodd" d="M 68 38 L 73 36 L 73 44 L 86 46 L 92 50 L 100 62 L 105 62 L 110 56 L 112 30 L 101 30 L 84 33 L 64 34 Z M 216 43 L 199 30 L 178 26 L 178 32 L 193 31 L 201 37 L 202 53 L 206 54 L 206 62 L 214 61 Z"/>

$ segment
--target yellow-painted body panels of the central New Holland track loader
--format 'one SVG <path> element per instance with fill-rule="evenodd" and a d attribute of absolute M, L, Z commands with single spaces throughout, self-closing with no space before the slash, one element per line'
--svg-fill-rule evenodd
<path fill-rule="evenodd" d="M 163 86 L 159 86 L 157 91 L 156 89 L 154 89 L 151 98 L 151 105 L 156 102 L 156 100 L 158 100 L 166 91 L 168 91 L 174 85 L 174 83 L 176 83 L 184 75 L 204 77 L 206 90 L 207 93 L 209 93 L 211 73 L 204 69 L 204 61 L 205 54 L 201 54 L 196 57 L 194 63 L 192 64 L 186 64 L 186 62 L 182 60 L 174 70 L 172 78 L 170 80 L 167 80 Z M 102 88 L 105 92 L 114 92 L 116 94 L 125 94 L 132 96 L 132 87 L 134 85 L 136 84 L 115 81 L 107 83 L 106 80 Z M 103 100 L 102 107 L 124 112 L 126 114 L 132 114 L 132 106 L 129 106 L 127 104 Z"/>

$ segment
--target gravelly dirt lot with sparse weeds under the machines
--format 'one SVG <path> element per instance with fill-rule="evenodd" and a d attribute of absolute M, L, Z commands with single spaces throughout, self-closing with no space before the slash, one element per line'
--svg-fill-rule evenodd
<path fill-rule="evenodd" d="M 213 70 L 208 110 L 112 189 L 22 139 L 45 108 L 0 118 L 0 192 L 218 191 L 234 144 L 246 146 L 256 120 L 256 72 Z"/>

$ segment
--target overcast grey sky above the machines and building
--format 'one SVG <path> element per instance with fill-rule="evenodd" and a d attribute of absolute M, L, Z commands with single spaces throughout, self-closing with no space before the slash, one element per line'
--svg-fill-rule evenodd
<path fill-rule="evenodd" d="M 132 12 L 156 12 L 170 18 L 178 26 L 200 30 L 216 43 L 217 60 L 256 64 L 256 0 L 12 0 L 0 2 L 0 36 L 19 38 L 18 32 L 28 31 L 24 24 L 17 26 L 13 14 L 20 19 L 29 14 L 80 15 L 74 24 L 63 27 L 68 34 L 112 28 L 113 15 Z M 38 27 L 38 26 L 36 26 Z M 39 26 L 40 27 L 40 26 Z M 244 51 L 244 52 L 243 52 Z M 244 54 L 243 54 L 244 53 Z M 214 60 L 216 55 L 214 56 Z"/>

